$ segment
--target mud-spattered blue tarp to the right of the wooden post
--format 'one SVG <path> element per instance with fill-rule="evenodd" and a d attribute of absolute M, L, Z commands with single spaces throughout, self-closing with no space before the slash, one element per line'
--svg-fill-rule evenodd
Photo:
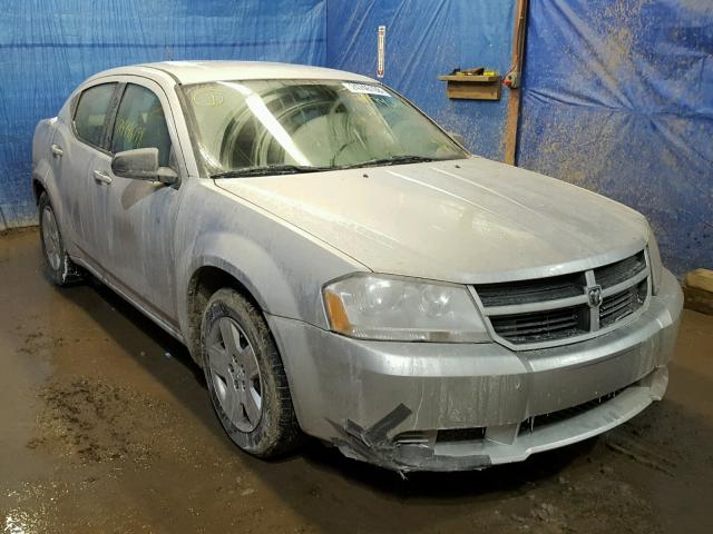
<path fill-rule="evenodd" d="M 518 165 L 643 212 L 713 268 L 713 2 L 531 1 Z"/>

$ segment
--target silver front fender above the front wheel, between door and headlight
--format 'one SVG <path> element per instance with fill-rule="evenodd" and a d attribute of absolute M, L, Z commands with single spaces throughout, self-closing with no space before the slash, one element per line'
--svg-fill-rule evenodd
<path fill-rule="evenodd" d="M 290 222 L 243 200 L 212 181 L 185 184 L 176 225 L 177 316 L 184 337 L 195 327 L 189 285 L 205 266 L 236 278 L 265 314 L 326 328 L 322 286 L 368 270 Z M 183 186 L 182 186 L 183 187 Z"/>

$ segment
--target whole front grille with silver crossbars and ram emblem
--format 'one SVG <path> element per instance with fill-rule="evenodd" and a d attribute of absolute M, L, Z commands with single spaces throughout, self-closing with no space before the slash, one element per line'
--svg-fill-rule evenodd
<path fill-rule="evenodd" d="M 608 328 L 634 314 L 646 301 L 647 277 L 642 250 L 587 271 L 484 284 L 475 290 L 499 338 L 538 346 Z"/>

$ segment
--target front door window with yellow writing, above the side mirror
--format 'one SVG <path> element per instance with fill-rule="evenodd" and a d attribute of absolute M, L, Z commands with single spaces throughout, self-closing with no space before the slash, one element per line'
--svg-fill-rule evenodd
<path fill-rule="evenodd" d="M 158 164 L 168 167 L 170 136 L 160 100 L 152 90 L 129 83 L 114 122 L 111 151 L 135 148 L 157 148 Z"/>

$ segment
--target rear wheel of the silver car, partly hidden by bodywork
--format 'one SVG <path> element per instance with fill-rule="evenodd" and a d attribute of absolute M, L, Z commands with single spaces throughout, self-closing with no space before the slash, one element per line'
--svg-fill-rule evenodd
<path fill-rule="evenodd" d="M 85 278 L 85 271 L 69 258 L 65 249 L 55 209 L 47 192 L 40 195 L 39 216 L 42 256 L 50 279 L 57 286 L 81 281 Z"/>

